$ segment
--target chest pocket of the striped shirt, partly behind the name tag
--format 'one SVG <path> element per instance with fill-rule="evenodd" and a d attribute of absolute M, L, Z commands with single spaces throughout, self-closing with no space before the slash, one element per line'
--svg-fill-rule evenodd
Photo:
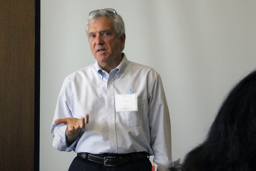
<path fill-rule="evenodd" d="M 145 99 L 137 98 L 138 111 L 133 112 L 117 112 L 124 125 L 141 126 L 145 113 Z"/>

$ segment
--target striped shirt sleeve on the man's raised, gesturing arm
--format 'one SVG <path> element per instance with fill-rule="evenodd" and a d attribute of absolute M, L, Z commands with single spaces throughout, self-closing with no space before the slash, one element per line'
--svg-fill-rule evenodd
<path fill-rule="evenodd" d="M 68 118 L 72 116 L 72 92 L 71 92 L 71 84 L 67 84 L 67 80 L 63 82 L 63 85 L 60 90 L 60 94 L 57 101 L 57 106 L 54 113 L 54 118 L 51 124 L 51 135 L 54 137 L 52 146 L 54 146 L 57 150 L 71 152 L 75 149 L 77 140 L 71 144 L 70 147 L 67 147 L 66 142 L 66 128 L 65 124 L 54 124 L 54 120 L 60 118 Z"/>

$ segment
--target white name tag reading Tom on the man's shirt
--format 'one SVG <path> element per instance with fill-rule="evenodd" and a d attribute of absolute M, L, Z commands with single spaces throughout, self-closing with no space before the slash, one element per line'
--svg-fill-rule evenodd
<path fill-rule="evenodd" d="M 121 94 L 115 96 L 115 111 L 138 111 L 137 94 Z"/>

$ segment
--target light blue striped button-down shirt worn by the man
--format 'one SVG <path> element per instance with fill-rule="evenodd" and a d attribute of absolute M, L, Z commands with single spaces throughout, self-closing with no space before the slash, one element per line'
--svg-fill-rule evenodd
<path fill-rule="evenodd" d="M 124 55 L 124 54 L 123 54 Z M 137 93 L 137 112 L 115 112 L 115 95 Z M 89 123 L 70 147 L 65 124 L 55 119 L 84 117 Z M 148 152 L 158 164 L 170 165 L 171 127 L 161 78 L 152 68 L 128 61 L 109 74 L 99 63 L 84 67 L 65 78 L 53 122 L 53 146 L 60 151 L 100 153 Z"/>

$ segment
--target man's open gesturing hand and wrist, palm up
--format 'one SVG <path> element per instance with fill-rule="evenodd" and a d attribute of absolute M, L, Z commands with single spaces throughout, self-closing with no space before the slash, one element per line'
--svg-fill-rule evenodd
<path fill-rule="evenodd" d="M 89 123 L 89 115 L 86 114 L 85 118 L 63 118 L 56 119 L 54 121 L 55 124 L 66 124 L 68 127 L 66 129 L 66 142 L 67 146 L 70 146 L 73 142 L 78 138 L 81 129 L 84 128 L 86 124 Z"/>

